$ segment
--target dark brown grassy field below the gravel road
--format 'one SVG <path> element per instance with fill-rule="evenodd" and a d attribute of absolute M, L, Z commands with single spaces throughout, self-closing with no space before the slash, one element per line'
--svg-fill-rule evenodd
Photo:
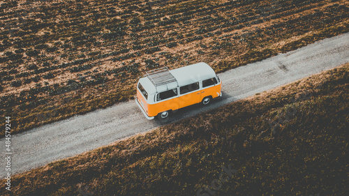
<path fill-rule="evenodd" d="M 348 79 L 347 63 L 14 175 L 11 192 L 78 195 L 87 187 L 94 195 L 195 195 L 230 165 L 237 172 L 216 195 L 345 195 Z M 290 107 L 296 112 L 271 128 Z M 4 182 L 0 194 L 9 195 Z"/>

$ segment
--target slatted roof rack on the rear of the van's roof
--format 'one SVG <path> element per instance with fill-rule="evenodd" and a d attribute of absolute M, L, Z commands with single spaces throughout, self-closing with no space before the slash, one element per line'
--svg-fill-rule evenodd
<path fill-rule="evenodd" d="M 168 70 L 167 67 L 147 71 L 144 76 L 148 77 L 150 82 L 153 83 L 155 87 L 169 84 L 171 82 L 177 82 L 176 78 L 174 78 L 174 76 L 170 73 L 170 70 Z M 158 89 L 156 88 L 156 91 L 157 90 Z"/>

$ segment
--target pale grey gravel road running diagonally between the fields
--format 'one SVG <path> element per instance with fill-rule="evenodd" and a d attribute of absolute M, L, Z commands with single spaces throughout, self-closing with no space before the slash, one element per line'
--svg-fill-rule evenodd
<path fill-rule="evenodd" d="M 299 50 L 228 70 L 218 76 L 223 96 L 207 107 L 193 105 L 172 115 L 170 122 L 221 107 L 277 86 L 349 62 L 349 33 L 318 41 Z M 5 119 L 3 119 L 4 121 Z M 170 123 L 167 122 L 167 123 Z M 34 128 L 11 137 L 11 173 L 17 174 L 144 133 L 164 123 L 145 119 L 134 100 L 103 110 Z M 5 177 L 5 138 L 0 140 L 0 176 Z"/>

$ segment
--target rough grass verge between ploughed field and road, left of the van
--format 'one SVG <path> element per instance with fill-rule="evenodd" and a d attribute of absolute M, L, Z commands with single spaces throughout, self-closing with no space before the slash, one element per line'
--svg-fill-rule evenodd
<path fill-rule="evenodd" d="M 13 129 L 11 133 L 21 133 L 24 130 L 35 128 L 38 125 L 45 125 L 47 123 L 66 119 L 75 114 L 86 114 L 87 112 L 92 112 L 96 109 L 105 108 L 114 103 L 129 100 L 133 98 L 134 94 L 135 89 L 128 86 L 124 90 L 107 93 L 104 96 L 97 97 L 86 96 L 80 98 L 80 96 L 73 96 L 72 93 L 68 93 L 64 98 L 58 100 L 58 103 L 61 103 L 61 105 L 53 104 L 56 101 L 51 100 L 50 102 L 41 104 L 40 107 L 34 108 L 34 110 L 29 107 L 30 104 L 28 104 L 28 107 L 23 107 L 27 110 L 19 112 L 19 114 L 17 114 L 18 117 L 11 121 L 11 124 L 16 127 L 16 129 Z M 28 110 L 31 110 L 30 115 L 27 114 Z M 1 134 L 1 137 L 4 137 L 3 133 Z"/>

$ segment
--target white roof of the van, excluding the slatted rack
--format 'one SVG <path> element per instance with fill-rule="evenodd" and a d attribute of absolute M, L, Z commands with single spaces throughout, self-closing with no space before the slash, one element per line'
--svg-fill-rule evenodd
<path fill-rule="evenodd" d="M 177 80 L 178 86 L 184 86 L 187 84 L 192 84 L 193 82 L 198 82 L 200 80 L 216 77 L 216 73 L 214 73 L 214 70 L 209 65 L 207 65 L 207 63 L 196 63 L 190 66 L 177 68 L 170 70 L 170 73 Z M 168 84 L 163 84 L 161 86 L 155 87 L 148 77 L 140 78 L 140 83 L 147 91 L 147 93 L 156 93 L 166 91 L 167 89 L 174 89 L 175 87 L 177 87 L 177 82 L 170 82 Z"/>

